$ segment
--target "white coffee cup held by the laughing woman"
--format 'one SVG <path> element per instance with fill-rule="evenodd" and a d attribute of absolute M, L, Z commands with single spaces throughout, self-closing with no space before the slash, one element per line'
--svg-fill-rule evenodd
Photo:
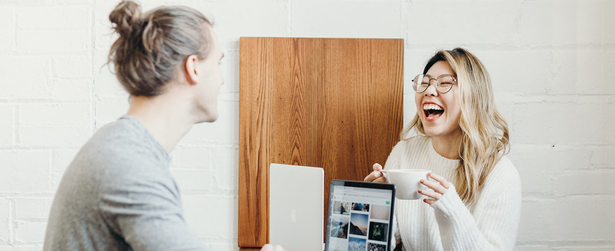
<path fill-rule="evenodd" d="M 427 180 L 425 169 L 392 169 L 381 170 L 386 173 L 386 180 L 395 184 L 395 197 L 397 199 L 421 199 L 423 194 L 419 194 L 418 189 L 429 189 L 421 184 L 421 180 Z"/>

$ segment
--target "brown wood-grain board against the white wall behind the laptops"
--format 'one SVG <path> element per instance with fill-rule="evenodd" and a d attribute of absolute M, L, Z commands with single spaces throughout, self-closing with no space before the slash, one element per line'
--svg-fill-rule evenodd
<path fill-rule="evenodd" d="M 269 164 L 322 167 L 326 215 L 399 139 L 402 39 L 240 38 L 239 79 L 239 247 L 269 240 Z"/>

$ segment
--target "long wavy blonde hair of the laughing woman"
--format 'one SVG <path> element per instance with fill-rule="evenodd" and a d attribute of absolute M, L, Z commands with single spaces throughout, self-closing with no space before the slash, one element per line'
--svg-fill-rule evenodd
<path fill-rule="evenodd" d="M 461 200 L 468 205 L 477 199 L 494 165 L 508 153 L 508 125 L 496 109 L 489 73 L 477 57 L 462 48 L 440 50 L 427 62 L 423 74 L 440 61 L 448 63 L 458 79 L 462 135 L 454 185 Z M 418 113 L 402 131 L 401 140 L 408 140 L 413 128 L 426 134 Z"/>

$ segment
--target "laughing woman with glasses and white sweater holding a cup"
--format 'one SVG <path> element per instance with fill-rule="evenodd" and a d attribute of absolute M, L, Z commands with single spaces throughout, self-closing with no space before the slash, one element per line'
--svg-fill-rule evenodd
<path fill-rule="evenodd" d="M 441 50 L 413 79 L 416 114 L 385 169 L 428 169 L 423 200 L 395 204 L 395 242 L 405 250 L 512 250 L 521 182 L 504 156 L 508 127 L 485 66 L 467 50 Z M 411 130 L 417 135 L 408 137 Z M 365 181 L 386 182 L 383 167 Z"/>

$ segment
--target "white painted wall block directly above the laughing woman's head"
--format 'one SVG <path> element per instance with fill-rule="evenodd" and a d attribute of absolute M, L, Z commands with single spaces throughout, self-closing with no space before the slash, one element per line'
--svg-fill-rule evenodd
<path fill-rule="evenodd" d="M 515 22 L 518 7 L 515 1 L 410 2 L 407 42 L 415 47 L 514 44 L 518 39 Z"/>

